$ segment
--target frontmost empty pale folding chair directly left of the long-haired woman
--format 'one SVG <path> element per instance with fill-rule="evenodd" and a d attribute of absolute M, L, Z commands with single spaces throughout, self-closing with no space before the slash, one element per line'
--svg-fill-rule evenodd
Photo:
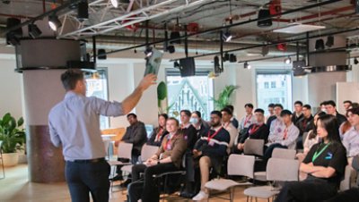
<path fill-rule="evenodd" d="M 293 159 L 270 158 L 267 164 L 267 181 L 298 181 L 299 162 Z M 264 198 L 269 202 L 269 198 L 279 193 L 279 189 L 274 186 L 259 186 L 244 189 L 247 201 L 252 198 Z"/>

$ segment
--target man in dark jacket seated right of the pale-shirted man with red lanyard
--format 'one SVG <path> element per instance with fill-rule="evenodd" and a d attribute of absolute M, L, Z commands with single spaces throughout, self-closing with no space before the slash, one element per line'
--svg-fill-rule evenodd
<path fill-rule="evenodd" d="M 311 105 L 303 105 L 302 106 L 302 118 L 298 120 L 295 126 L 299 129 L 299 136 L 297 139 L 297 149 L 303 148 L 302 135 L 304 132 L 308 132 L 312 130 L 313 116 L 311 115 Z"/>

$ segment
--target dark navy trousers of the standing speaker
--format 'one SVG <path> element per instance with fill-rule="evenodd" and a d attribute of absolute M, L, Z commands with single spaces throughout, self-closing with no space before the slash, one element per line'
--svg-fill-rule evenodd
<path fill-rule="evenodd" d="M 109 164 L 103 160 L 97 163 L 75 163 L 66 161 L 66 182 L 72 202 L 109 201 Z"/>

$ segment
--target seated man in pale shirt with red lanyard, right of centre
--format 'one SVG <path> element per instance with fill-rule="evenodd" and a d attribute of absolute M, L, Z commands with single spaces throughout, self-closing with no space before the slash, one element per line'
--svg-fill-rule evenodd
<path fill-rule="evenodd" d="M 264 154 L 265 159 L 269 159 L 272 156 L 273 149 L 276 147 L 295 149 L 299 130 L 292 122 L 291 111 L 283 110 L 281 112 L 281 119 L 284 124 L 276 126 L 275 130 L 269 133 L 267 149 Z"/>

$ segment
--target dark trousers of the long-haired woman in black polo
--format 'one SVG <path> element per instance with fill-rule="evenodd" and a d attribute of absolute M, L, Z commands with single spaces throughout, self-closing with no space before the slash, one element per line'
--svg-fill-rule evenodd
<path fill-rule="evenodd" d="M 318 202 L 336 194 L 337 186 L 322 179 L 289 181 L 285 182 L 276 202 Z"/>

